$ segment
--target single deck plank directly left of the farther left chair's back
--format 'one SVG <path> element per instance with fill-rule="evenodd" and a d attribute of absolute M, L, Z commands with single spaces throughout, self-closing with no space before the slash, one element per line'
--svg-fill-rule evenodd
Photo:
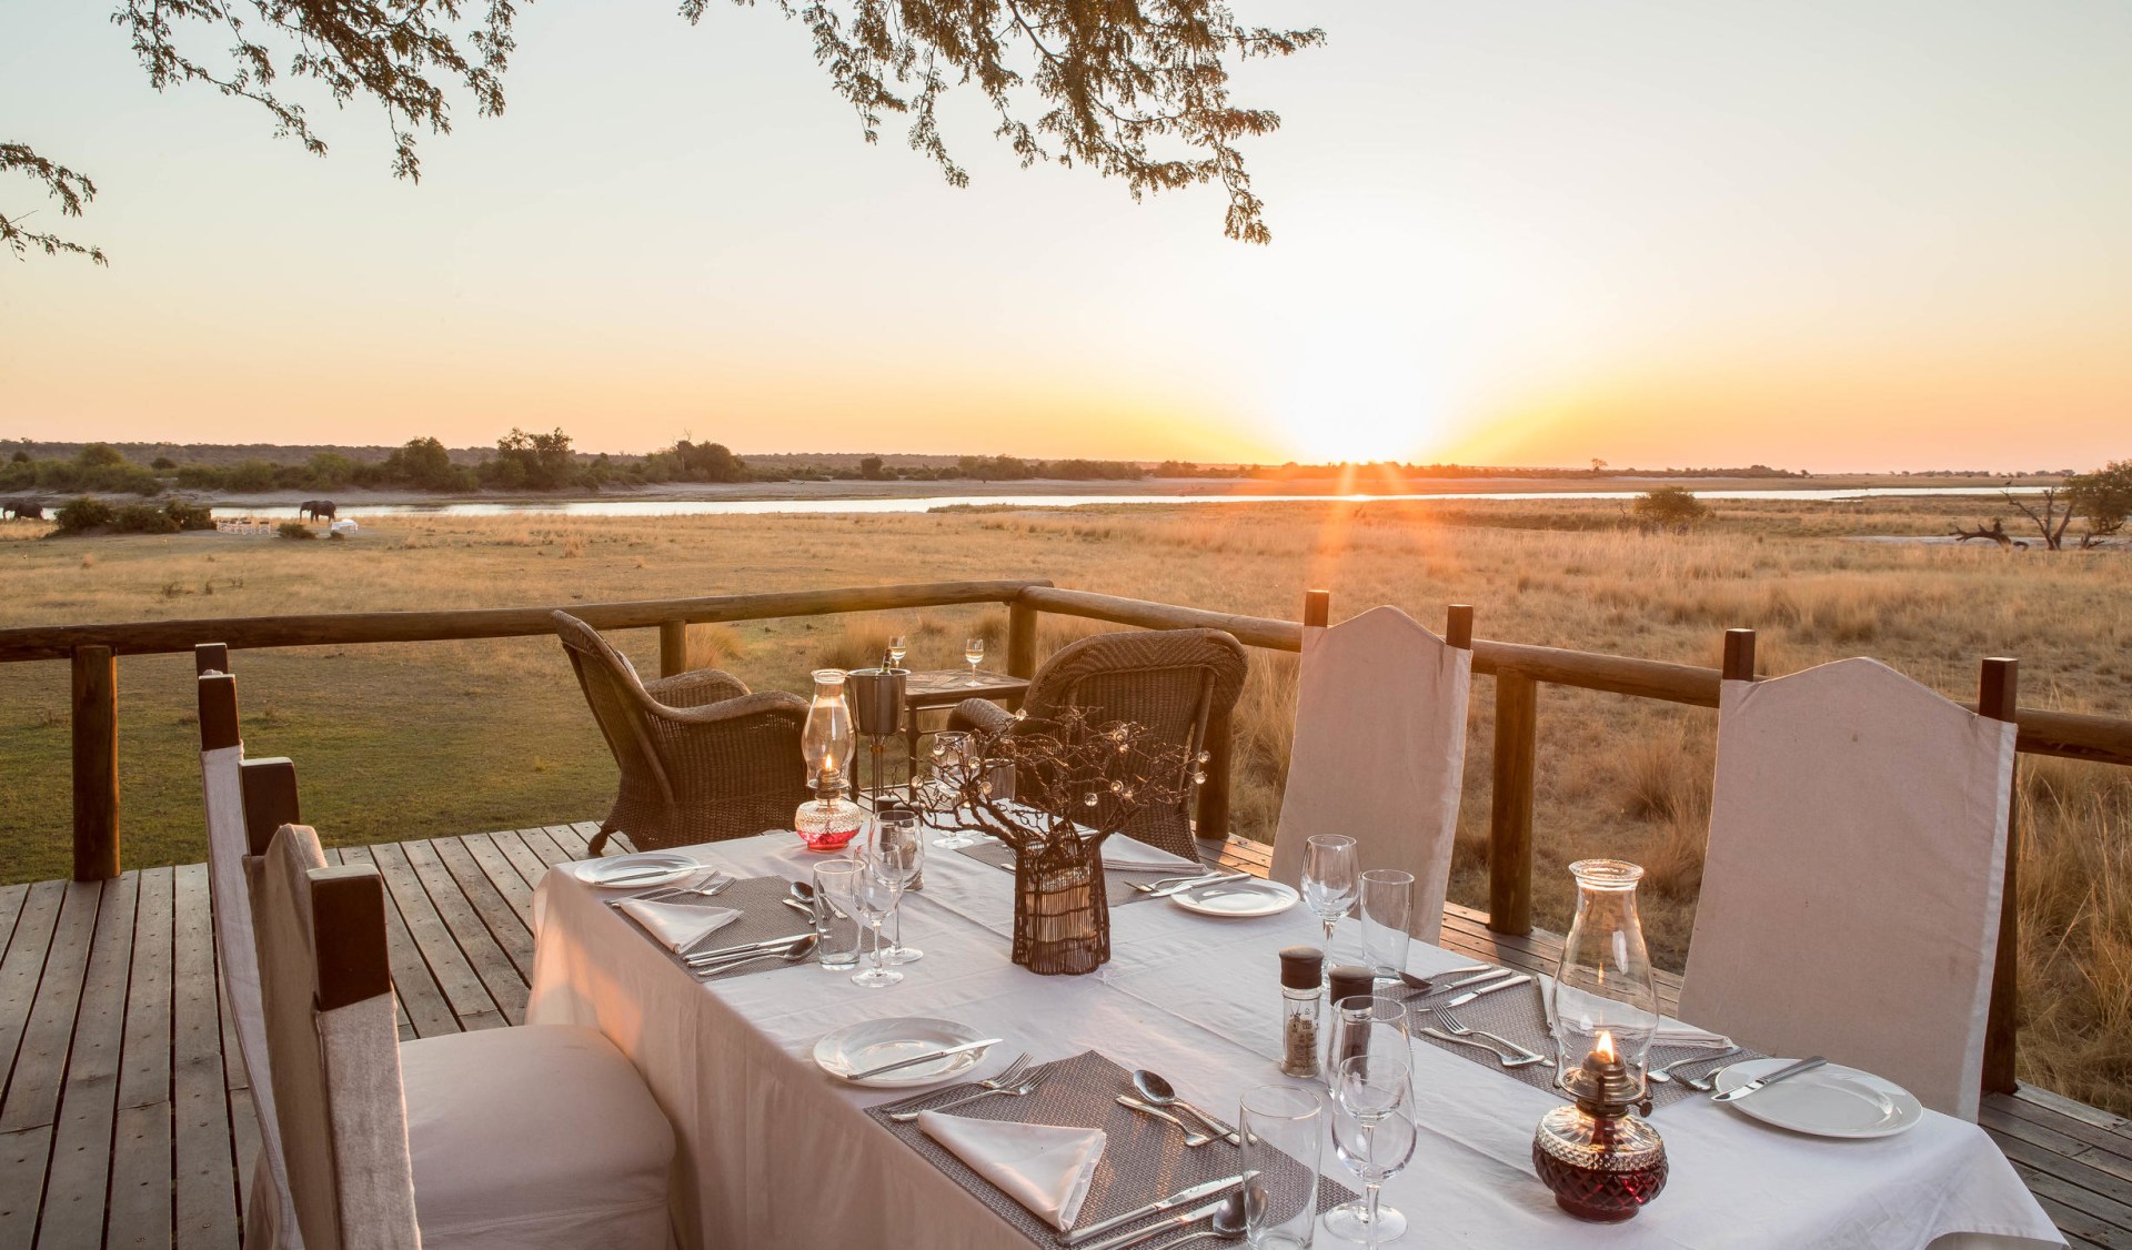
<path fill-rule="evenodd" d="M 173 1216 L 179 1250 L 237 1246 L 237 1160 L 222 1073 L 222 992 L 207 864 L 171 875 Z"/>

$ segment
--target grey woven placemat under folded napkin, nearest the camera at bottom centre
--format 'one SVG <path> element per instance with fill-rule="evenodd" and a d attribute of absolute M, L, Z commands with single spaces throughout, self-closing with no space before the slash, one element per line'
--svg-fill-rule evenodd
<path fill-rule="evenodd" d="M 1130 1075 L 1126 1069 L 1107 1060 L 1098 1052 L 1040 1064 L 1032 1069 L 1032 1075 L 1038 1077 L 1036 1092 L 1032 1094 L 1021 1099 L 974 1099 L 947 1113 L 972 1120 L 1053 1124 L 1060 1128 L 1102 1128 L 1102 1160 L 1096 1165 L 1096 1177 L 1089 1182 L 1087 1199 L 1081 1201 L 1081 1214 L 1075 1220 L 1077 1227 L 1085 1229 L 1098 1220 L 1121 1216 L 1181 1188 L 1243 1171 L 1243 1150 L 1220 1139 L 1211 1145 L 1185 1145 L 1183 1128 L 1134 1111 L 1132 1107 L 1119 1107 L 1117 1096 L 1132 1092 Z M 972 1197 L 976 1197 L 976 1201 L 991 1207 L 1032 1244 L 1060 1246 L 1062 1237 L 1057 1229 L 1036 1218 L 1028 1207 L 1000 1192 L 985 1177 L 976 1175 L 970 1165 L 955 1158 L 953 1152 L 927 1137 L 915 1120 L 910 1124 L 889 1120 L 891 1111 L 919 1111 L 938 1103 L 951 1103 L 957 1094 L 968 1094 L 976 1086 L 949 1086 L 942 1090 L 930 1090 L 917 1099 L 870 1107 L 866 1113 L 902 1139 L 904 1145 L 917 1150 L 934 1167 L 953 1177 L 955 1184 L 966 1188 Z M 1209 1111 L 1222 1113 L 1220 1107 L 1209 1107 Z M 1309 1169 L 1296 1163 L 1288 1184 L 1309 1184 Z M 1354 1190 L 1341 1186 L 1332 1177 L 1318 1177 L 1320 1212 L 1337 1207 L 1354 1197 Z M 1170 1216 L 1177 1216 L 1177 1212 L 1147 1216 L 1145 1224 L 1158 1224 Z M 1119 1227 L 1119 1233 L 1128 1227 L 1145 1224 L 1126 1224 Z"/>

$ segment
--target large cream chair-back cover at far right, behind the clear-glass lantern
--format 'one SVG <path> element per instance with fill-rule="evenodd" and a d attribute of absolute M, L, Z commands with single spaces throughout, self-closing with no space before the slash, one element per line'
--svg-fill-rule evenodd
<path fill-rule="evenodd" d="M 1872 659 L 1725 683 L 1680 1017 L 1976 1120 L 2013 749 Z"/>

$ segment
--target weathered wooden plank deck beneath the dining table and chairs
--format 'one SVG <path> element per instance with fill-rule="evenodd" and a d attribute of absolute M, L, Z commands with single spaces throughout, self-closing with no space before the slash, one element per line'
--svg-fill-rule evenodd
<path fill-rule="evenodd" d="M 595 828 L 328 851 L 386 879 L 401 1037 L 518 1024 L 539 875 Z M 1230 860 L 1264 872 L 1264 849 Z M 1558 939 L 1490 934 L 1452 907 L 1443 945 L 1552 968 Z M 207 868 L 0 885 L 0 1246 L 235 1248 L 256 1133 L 215 981 Z M 1671 990 L 1671 988 L 1669 988 Z M 2132 1124 L 2040 1090 L 1985 1131 L 2074 1246 L 2132 1250 Z"/>

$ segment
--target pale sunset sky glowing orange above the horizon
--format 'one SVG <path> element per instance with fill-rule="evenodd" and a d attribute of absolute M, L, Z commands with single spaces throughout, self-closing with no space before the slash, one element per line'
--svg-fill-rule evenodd
<path fill-rule="evenodd" d="M 2132 454 L 2132 9 L 1243 0 L 1275 230 L 866 147 L 770 9 L 533 6 L 512 105 L 328 160 L 4 19 L 113 265 L 0 260 L 0 437 L 1812 469 Z M 34 203 L 0 183 L 11 215 Z M 51 226 L 53 211 L 30 224 Z"/>

